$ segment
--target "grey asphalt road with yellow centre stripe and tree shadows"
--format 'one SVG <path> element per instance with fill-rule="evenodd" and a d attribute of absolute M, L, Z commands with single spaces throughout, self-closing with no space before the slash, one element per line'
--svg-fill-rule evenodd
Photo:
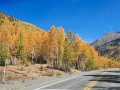
<path fill-rule="evenodd" d="M 120 70 L 106 69 L 84 72 L 34 90 L 120 90 Z"/>

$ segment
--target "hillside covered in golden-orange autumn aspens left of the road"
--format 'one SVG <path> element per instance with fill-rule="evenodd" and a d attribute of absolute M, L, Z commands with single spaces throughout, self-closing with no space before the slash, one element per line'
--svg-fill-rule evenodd
<path fill-rule="evenodd" d="M 48 32 L 0 12 L 0 65 L 49 64 L 54 69 L 92 70 L 120 67 L 101 57 L 72 31 L 52 26 Z"/>

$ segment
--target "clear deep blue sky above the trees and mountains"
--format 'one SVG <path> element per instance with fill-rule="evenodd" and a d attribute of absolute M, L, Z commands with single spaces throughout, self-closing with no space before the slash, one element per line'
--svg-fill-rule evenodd
<path fill-rule="evenodd" d="M 46 31 L 62 26 L 89 43 L 120 31 L 120 0 L 0 0 L 0 11 Z"/>

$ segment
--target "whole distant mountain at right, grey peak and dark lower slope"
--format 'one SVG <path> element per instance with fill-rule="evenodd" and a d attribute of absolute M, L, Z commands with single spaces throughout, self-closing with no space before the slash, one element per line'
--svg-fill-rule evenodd
<path fill-rule="evenodd" d="M 92 43 L 102 56 L 120 60 L 120 32 L 110 32 Z"/>

